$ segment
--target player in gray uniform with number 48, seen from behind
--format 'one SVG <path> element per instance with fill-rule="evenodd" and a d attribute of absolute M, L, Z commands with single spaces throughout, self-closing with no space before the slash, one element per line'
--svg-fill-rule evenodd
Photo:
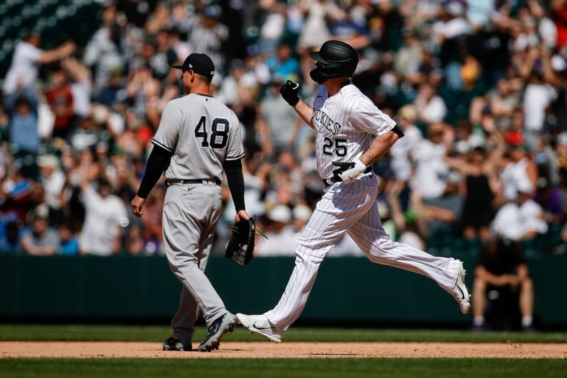
<path fill-rule="evenodd" d="M 198 350 L 218 348 L 220 338 L 236 325 L 222 299 L 204 274 L 221 209 L 220 182 L 225 169 L 235 201 L 236 221 L 248 219 L 240 159 L 245 155 L 240 123 L 230 109 L 210 96 L 215 68 L 210 57 L 191 54 L 181 69 L 186 96 L 169 101 L 152 140 L 132 212 L 142 215 L 147 194 L 165 171 L 167 191 L 162 228 L 172 272 L 183 284 L 173 335 L 164 350 L 191 350 L 198 311 L 208 326 Z"/>

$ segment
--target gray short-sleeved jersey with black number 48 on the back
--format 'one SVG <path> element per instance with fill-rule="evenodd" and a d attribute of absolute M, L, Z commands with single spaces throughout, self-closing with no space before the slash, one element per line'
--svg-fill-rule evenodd
<path fill-rule="evenodd" d="M 152 143 L 173 153 L 167 179 L 220 181 L 224 161 L 245 155 L 235 113 L 202 94 L 169 101 Z"/>

